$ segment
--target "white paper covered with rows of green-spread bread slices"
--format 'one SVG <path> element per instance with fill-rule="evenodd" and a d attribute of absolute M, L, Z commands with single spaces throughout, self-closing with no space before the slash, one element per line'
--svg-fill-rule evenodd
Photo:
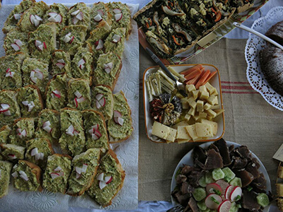
<path fill-rule="evenodd" d="M 1 7 L 1 211 L 137 208 L 137 8 Z"/>

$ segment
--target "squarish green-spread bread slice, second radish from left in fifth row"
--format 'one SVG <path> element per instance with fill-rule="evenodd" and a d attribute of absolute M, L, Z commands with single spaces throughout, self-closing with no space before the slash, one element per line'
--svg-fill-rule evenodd
<path fill-rule="evenodd" d="M 55 143 L 61 136 L 60 128 L 60 113 L 57 110 L 42 110 L 38 114 L 35 137 L 45 138 Z"/>

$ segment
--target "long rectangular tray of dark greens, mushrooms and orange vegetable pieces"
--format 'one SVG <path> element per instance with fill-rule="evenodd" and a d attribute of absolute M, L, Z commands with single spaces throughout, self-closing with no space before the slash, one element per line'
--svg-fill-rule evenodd
<path fill-rule="evenodd" d="M 153 0 L 134 14 L 139 42 L 180 64 L 229 33 L 268 0 Z"/>

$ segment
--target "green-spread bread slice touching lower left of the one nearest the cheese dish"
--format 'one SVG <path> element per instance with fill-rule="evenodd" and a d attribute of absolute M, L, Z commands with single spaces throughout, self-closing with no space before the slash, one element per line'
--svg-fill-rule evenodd
<path fill-rule="evenodd" d="M 86 148 L 109 149 L 107 127 L 103 114 L 95 110 L 83 110 L 83 128 L 86 134 Z"/>

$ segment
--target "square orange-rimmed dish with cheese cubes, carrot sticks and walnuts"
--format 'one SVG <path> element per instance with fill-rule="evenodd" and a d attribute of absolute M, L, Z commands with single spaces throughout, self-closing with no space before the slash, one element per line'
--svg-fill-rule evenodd
<path fill-rule="evenodd" d="M 146 134 L 156 143 L 216 141 L 225 131 L 219 71 L 209 64 L 168 66 L 185 96 L 158 66 L 144 71 Z"/>

